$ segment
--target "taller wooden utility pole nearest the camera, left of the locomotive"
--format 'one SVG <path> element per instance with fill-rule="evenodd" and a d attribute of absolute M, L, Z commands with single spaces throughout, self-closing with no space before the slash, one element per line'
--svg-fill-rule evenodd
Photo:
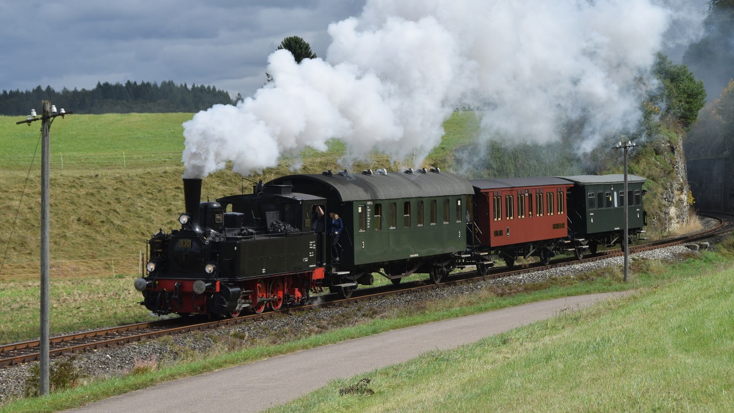
<path fill-rule="evenodd" d="M 51 106 L 50 101 L 41 101 L 43 105 L 43 112 L 40 118 L 36 117 L 35 109 L 31 111 L 31 114 L 26 117 L 25 121 L 15 122 L 16 125 L 21 123 L 31 123 L 34 121 L 41 121 L 41 309 L 40 309 L 40 354 L 39 354 L 39 378 L 40 383 L 38 385 L 38 392 L 40 395 L 48 395 L 48 377 L 49 377 L 49 342 L 48 342 L 48 301 L 49 292 L 51 290 L 51 281 L 49 280 L 49 248 L 48 248 L 48 234 L 49 234 L 49 209 L 51 209 L 51 201 L 49 197 L 49 179 L 50 174 L 50 159 L 51 159 L 51 137 L 49 133 L 51 131 L 51 122 L 54 118 L 68 115 L 73 112 L 65 112 L 61 109 L 57 112 L 56 106 Z"/>

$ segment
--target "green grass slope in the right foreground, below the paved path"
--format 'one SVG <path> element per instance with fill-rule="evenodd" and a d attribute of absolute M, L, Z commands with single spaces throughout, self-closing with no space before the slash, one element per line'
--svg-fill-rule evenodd
<path fill-rule="evenodd" d="M 732 412 L 734 269 L 722 264 L 680 266 L 641 297 L 333 381 L 271 411 Z"/>

